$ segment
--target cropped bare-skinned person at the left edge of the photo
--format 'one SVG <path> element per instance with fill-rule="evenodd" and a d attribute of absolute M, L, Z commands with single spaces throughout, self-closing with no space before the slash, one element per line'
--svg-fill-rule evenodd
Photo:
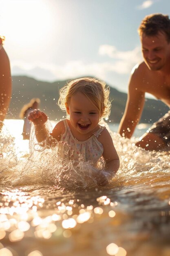
<path fill-rule="evenodd" d="M 3 48 L 4 36 L 0 36 L 0 130 L 11 100 L 11 69 L 9 58 Z"/>

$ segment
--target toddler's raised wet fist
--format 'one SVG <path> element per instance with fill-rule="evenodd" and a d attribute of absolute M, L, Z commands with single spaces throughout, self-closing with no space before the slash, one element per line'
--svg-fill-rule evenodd
<path fill-rule="evenodd" d="M 29 113 L 28 119 L 35 125 L 41 125 L 47 121 L 48 117 L 44 112 L 35 109 Z"/>

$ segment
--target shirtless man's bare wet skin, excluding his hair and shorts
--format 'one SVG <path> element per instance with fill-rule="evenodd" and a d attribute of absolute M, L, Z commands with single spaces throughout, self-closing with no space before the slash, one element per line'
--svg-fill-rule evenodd
<path fill-rule="evenodd" d="M 148 92 L 170 107 L 170 42 L 159 32 L 156 36 L 141 36 L 144 62 L 136 65 L 130 76 L 128 100 L 118 132 L 130 138 L 139 123 Z M 147 146 L 146 146 L 147 145 Z M 144 134 L 137 146 L 161 150 L 164 141 L 154 134 Z"/>

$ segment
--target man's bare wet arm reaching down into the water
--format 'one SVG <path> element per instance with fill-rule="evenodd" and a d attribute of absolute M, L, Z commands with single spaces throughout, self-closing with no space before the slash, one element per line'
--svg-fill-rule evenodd
<path fill-rule="evenodd" d="M 130 77 L 126 108 L 118 129 L 120 135 L 126 138 L 132 137 L 144 108 L 145 92 L 141 90 L 142 81 L 137 68 Z"/>

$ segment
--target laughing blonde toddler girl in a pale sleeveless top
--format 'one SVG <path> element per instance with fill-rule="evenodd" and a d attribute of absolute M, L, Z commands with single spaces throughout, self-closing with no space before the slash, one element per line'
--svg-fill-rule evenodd
<path fill-rule="evenodd" d="M 67 118 L 58 122 L 52 132 L 46 129 L 48 117 L 40 110 L 33 110 L 28 119 L 35 125 L 38 142 L 50 135 L 60 141 L 59 153 L 70 160 L 83 159 L 96 166 L 100 157 L 105 160 L 103 170 L 94 172 L 97 184 L 108 184 L 119 169 L 119 157 L 113 145 L 110 133 L 99 125 L 102 117 L 110 114 L 109 88 L 94 78 L 75 79 L 60 90 L 58 104 L 67 113 Z M 53 141 L 53 140 L 51 140 Z M 106 172 L 105 172 L 106 171 Z"/>

